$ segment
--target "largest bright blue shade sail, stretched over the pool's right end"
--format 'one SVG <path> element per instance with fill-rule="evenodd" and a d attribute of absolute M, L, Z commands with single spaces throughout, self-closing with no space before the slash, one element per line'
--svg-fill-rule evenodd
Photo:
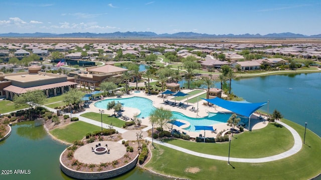
<path fill-rule="evenodd" d="M 235 112 L 239 115 L 243 115 L 245 117 L 250 117 L 255 110 L 261 108 L 263 105 L 265 105 L 267 102 L 257 102 L 257 103 L 250 103 L 250 102 L 237 102 L 237 101 L 229 101 L 224 100 L 219 97 L 215 97 L 212 99 L 205 99 L 204 100 L 216 104 L 220 107 L 226 108 L 228 110 L 231 110 L 232 112 Z"/>

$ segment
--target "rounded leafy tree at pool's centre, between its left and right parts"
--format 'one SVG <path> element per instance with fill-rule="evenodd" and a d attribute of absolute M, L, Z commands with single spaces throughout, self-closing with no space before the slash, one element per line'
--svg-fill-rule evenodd
<path fill-rule="evenodd" d="M 173 116 L 171 109 L 167 109 L 164 107 L 159 107 L 150 112 L 149 121 L 152 124 L 156 124 L 159 127 L 164 126 L 164 124 L 169 121 Z"/>

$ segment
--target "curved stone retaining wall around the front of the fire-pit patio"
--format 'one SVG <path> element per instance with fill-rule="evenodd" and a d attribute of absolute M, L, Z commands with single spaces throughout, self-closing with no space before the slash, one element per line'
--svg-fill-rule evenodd
<path fill-rule="evenodd" d="M 65 149 L 65 150 L 67 150 L 67 149 Z M 74 177 L 74 178 L 78 178 L 78 179 L 104 179 L 104 178 L 114 177 L 114 176 L 123 174 L 123 173 L 131 170 L 132 168 L 134 168 L 136 166 L 136 163 L 138 161 L 138 154 L 137 154 L 136 157 L 132 161 L 130 161 L 129 163 L 127 163 L 126 165 L 123 165 L 121 167 L 118 167 L 118 168 L 115 168 L 112 170 L 107 170 L 107 171 L 100 171 L 100 172 L 83 172 L 83 171 L 77 171 L 77 170 L 70 169 L 62 163 L 61 157 L 62 157 L 62 154 L 64 153 L 64 151 L 61 153 L 60 159 L 59 159 L 60 160 L 60 169 L 65 174 L 67 174 L 71 177 Z"/>

